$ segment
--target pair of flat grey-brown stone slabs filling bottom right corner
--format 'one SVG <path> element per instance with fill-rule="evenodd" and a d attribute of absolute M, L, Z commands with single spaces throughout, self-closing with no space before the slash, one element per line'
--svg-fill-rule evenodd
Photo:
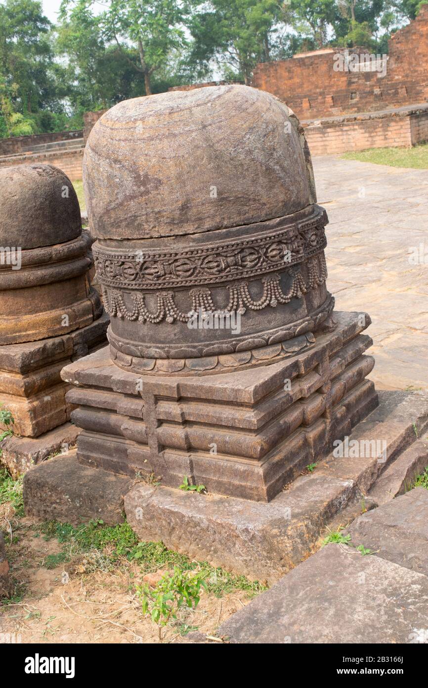
<path fill-rule="evenodd" d="M 428 491 L 356 519 L 217 631 L 229 643 L 428 643 Z M 370 550 L 361 555 L 357 547 Z M 207 642 L 190 634 L 192 642 Z"/>

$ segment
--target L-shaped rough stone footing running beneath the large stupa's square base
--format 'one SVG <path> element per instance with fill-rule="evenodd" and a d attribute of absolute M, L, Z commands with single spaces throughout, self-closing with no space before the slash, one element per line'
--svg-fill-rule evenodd
<path fill-rule="evenodd" d="M 346 526 L 361 511 L 376 507 L 370 494 L 377 481 L 426 433 L 427 394 L 381 392 L 380 397 L 379 407 L 350 436 L 361 447 L 381 438 L 385 451 L 380 458 L 372 453 L 359 458 L 330 455 L 268 504 L 154 487 L 142 480 L 134 484 L 126 475 L 82 466 L 73 453 L 72 461 L 69 455 L 59 457 L 25 475 L 25 510 L 37 517 L 78 521 L 99 517 L 100 505 L 108 502 L 114 513 L 124 508 L 139 539 L 162 540 L 193 559 L 274 582 L 319 548 L 326 526 Z M 69 464 L 62 463 L 66 460 Z M 414 462 L 413 475 L 422 462 L 428 465 L 428 452 Z M 403 489 L 411 467 L 409 462 L 402 467 Z M 78 504 L 82 480 L 85 509 Z M 69 499 L 71 489 L 75 501 Z M 45 495 L 52 491 L 56 498 L 47 500 Z"/>

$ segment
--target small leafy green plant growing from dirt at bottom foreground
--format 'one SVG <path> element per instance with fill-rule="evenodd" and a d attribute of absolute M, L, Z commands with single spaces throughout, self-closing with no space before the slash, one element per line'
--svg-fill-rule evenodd
<path fill-rule="evenodd" d="M 177 619 L 177 613 L 183 606 L 196 608 L 199 604 L 201 588 L 207 588 L 207 583 L 201 574 L 192 574 L 174 566 L 172 575 L 164 575 L 155 588 L 137 585 L 137 596 L 142 601 L 143 614 L 150 614 L 153 623 L 159 630 L 159 641 L 162 642 L 162 627 L 172 619 Z"/>

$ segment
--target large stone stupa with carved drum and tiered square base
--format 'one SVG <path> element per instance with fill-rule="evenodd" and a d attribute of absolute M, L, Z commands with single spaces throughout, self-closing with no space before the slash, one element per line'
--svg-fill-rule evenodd
<path fill-rule="evenodd" d="M 286 105 L 245 86 L 125 101 L 91 131 L 84 185 L 111 325 L 63 371 L 79 462 L 269 501 L 376 406 L 370 319 L 333 312 Z"/>

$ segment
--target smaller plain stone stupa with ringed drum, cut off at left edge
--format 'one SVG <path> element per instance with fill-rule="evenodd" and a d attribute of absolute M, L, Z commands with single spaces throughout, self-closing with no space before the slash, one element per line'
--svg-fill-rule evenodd
<path fill-rule="evenodd" d="M 104 341 L 108 318 L 89 283 L 90 242 L 67 176 L 45 164 L 5 167 L 0 194 L 0 402 L 14 433 L 37 438 L 67 422 L 60 370 Z M 14 472 L 27 466 L 11 441 L 3 460 L 16 450 Z"/>

